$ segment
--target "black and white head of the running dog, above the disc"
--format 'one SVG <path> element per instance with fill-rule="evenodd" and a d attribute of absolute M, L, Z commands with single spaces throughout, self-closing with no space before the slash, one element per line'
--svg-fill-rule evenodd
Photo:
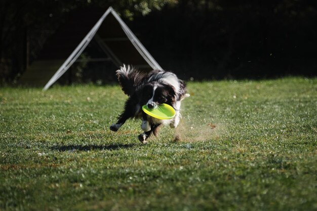
<path fill-rule="evenodd" d="M 141 105 L 147 105 L 148 108 L 154 109 L 162 103 L 173 105 L 176 100 L 176 93 L 170 85 L 147 83 L 140 89 L 139 97 Z"/>

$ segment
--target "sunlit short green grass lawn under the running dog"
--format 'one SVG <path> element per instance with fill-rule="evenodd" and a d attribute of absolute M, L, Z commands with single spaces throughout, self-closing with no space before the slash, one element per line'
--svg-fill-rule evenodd
<path fill-rule="evenodd" d="M 0 88 L 0 210 L 317 210 L 317 78 L 188 92 L 142 145 L 117 86 Z"/>

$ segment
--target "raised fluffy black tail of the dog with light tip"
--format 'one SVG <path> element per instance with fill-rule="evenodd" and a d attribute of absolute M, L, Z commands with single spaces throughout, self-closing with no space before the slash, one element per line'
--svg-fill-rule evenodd
<path fill-rule="evenodd" d="M 126 95 L 131 96 L 134 94 L 140 78 L 139 74 L 140 72 L 138 70 L 125 64 L 116 71 L 116 76 L 118 77 L 121 89 Z"/>

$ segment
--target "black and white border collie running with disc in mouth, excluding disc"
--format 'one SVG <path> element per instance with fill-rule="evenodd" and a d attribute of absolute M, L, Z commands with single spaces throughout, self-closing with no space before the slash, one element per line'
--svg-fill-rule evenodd
<path fill-rule="evenodd" d="M 152 70 L 145 73 L 124 65 L 116 71 L 116 76 L 122 91 L 129 98 L 124 112 L 118 116 L 117 122 L 110 126 L 111 131 L 117 131 L 129 118 L 142 119 L 141 129 L 144 132 L 138 138 L 141 143 L 146 143 L 151 135 L 157 136 L 160 125 L 170 124 L 171 128 L 177 127 L 180 120 L 181 101 L 189 97 L 189 94 L 186 94 L 185 83 L 174 73 L 164 70 Z M 143 105 L 154 109 L 162 103 L 171 105 L 175 109 L 174 118 L 157 119 L 142 110 Z"/>

